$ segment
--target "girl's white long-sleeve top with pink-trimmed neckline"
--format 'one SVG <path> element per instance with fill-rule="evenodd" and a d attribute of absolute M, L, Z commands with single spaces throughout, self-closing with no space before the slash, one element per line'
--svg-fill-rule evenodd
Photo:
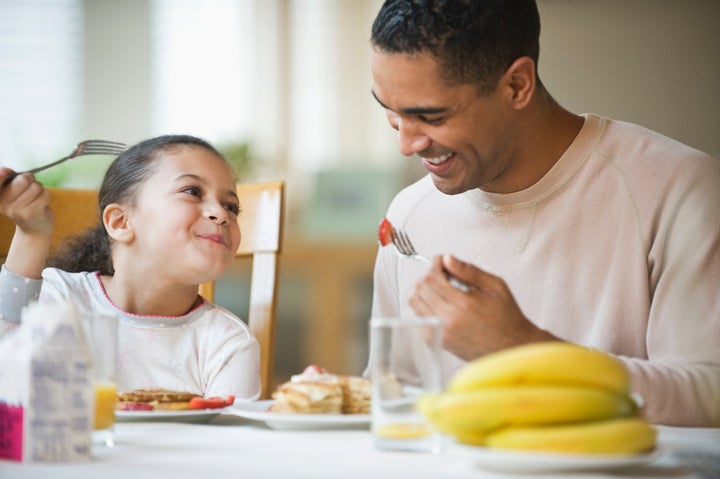
<path fill-rule="evenodd" d="M 0 333 L 17 325 L 29 301 L 70 299 L 83 314 L 118 318 L 118 391 L 165 388 L 205 397 L 260 395 L 260 347 L 245 323 L 204 301 L 183 316 L 128 313 L 108 298 L 97 273 L 46 268 L 41 280 L 0 272 Z"/>

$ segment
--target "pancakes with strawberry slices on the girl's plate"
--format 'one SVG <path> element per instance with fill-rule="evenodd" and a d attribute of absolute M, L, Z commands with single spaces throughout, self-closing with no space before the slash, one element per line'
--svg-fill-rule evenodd
<path fill-rule="evenodd" d="M 235 396 L 204 398 L 199 394 L 170 389 L 135 389 L 118 393 L 119 411 L 185 411 L 189 409 L 218 409 L 230 406 Z"/>

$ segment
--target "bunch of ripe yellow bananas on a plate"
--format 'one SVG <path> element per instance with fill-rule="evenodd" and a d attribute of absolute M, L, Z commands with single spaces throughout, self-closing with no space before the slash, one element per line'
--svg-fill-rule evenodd
<path fill-rule="evenodd" d="M 483 356 L 418 409 L 465 444 L 582 454 L 631 454 L 656 431 L 629 395 L 625 366 L 603 352 L 559 341 Z"/>

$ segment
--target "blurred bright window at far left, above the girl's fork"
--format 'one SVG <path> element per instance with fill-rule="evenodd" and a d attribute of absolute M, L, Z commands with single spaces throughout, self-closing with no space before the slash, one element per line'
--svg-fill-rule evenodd
<path fill-rule="evenodd" d="M 70 151 L 83 110 L 81 0 L 0 2 L 1 164 Z"/>

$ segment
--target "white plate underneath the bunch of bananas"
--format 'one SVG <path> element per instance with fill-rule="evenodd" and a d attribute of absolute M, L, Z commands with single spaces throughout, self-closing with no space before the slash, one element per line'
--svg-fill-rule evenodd
<path fill-rule="evenodd" d="M 608 471 L 648 464 L 658 452 L 631 455 L 553 454 L 453 444 L 453 452 L 483 469 L 503 472 Z"/>

